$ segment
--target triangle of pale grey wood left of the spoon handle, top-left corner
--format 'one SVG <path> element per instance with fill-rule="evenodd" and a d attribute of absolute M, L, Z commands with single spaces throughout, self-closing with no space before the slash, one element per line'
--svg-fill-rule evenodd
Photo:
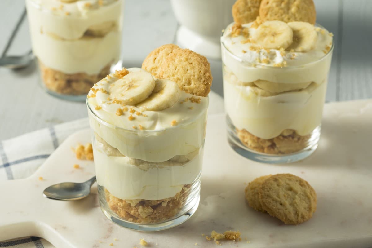
<path fill-rule="evenodd" d="M 13 29 L 25 10 L 25 0 L 2 0 L 0 1 L 0 54 L 3 53 L 6 44 L 12 36 Z"/>

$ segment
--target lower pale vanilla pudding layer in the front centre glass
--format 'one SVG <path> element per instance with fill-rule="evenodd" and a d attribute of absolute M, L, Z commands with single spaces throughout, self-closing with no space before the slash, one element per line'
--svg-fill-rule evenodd
<path fill-rule="evenodd" d="M 97 183 L 110 194 L 125 200 L 162 200 L 175 196 L 198 177 L 203 149 L 149 162 L 122 155 L 96 134 L 93 152 Z"/>

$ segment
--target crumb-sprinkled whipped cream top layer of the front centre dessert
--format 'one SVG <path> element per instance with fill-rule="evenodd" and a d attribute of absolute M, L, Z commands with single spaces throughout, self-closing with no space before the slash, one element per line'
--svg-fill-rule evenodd
<path fill-rule="evenodd" d="M 129 68 L 128 71 L 143 70 Z M 186 155 L 203 145 L 208 97 L 181 91 L 173 106 L 163 110 L 144 110 L 142 107 L 123 106 L 110 97 L 110 90 L 117 88 L 110 85 L 118 80 L 118 74 L 108 75 L 95 84 L 87 99 L 90 126 L 109 145 L 125 156 L 151 162 Z"/>

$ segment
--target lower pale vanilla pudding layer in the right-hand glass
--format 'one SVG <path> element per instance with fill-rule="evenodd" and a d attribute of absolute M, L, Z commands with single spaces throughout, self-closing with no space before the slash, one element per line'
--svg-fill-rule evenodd
<path fill-rule="evenodd" d="M 237 129 L 272 139 L 285 129 L 294 129 L 298 135 L 310 134 L 320 125 L 327 78 L 323 83 L 312 83 L 299 90 L 271 93 L 257 86 L 239 85 L 225 77 L 225 110 Z"/>

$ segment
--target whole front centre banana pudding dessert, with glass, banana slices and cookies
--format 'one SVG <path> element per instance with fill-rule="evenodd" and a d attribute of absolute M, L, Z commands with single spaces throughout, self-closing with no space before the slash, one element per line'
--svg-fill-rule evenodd
<path fill-rule="evenodd" d="M 142 68 L 94 84 L 87 107 L 99 202 L 109 219 L 157 231 L 195 212 L 211 83 L 205 57 L 164 45 Z"/>

